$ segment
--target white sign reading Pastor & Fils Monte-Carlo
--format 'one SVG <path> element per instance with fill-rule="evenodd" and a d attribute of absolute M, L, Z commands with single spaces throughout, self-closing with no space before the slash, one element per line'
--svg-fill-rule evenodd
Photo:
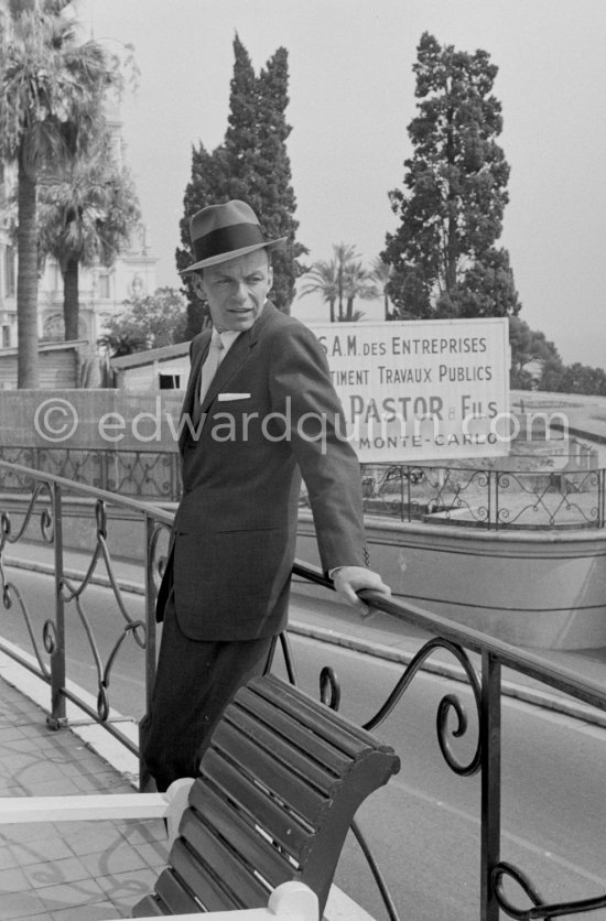
<path fill-rule="evenodd" d="M 360 462 L 509 452 L 507 318 L 311 326 Z"/>

